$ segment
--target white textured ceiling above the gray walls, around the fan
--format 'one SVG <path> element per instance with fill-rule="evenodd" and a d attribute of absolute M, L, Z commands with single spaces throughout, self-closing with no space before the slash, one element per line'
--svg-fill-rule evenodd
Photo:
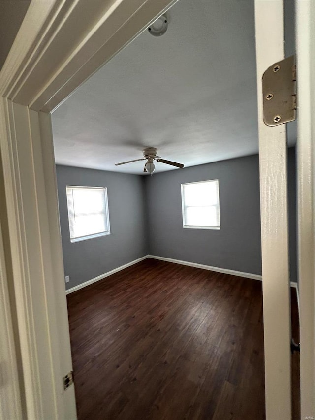
<path fill-rule="evenodd" d="M 115 163 L 147 146 L 185 166 L 258 152 L 253 1 L 179 1 L 167 18 L 53 113 L 57 163 L 143 174 Z"/>

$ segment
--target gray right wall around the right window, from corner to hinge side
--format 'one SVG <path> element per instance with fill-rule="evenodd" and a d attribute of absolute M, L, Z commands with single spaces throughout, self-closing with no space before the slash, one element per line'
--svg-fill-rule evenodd
<path fill-rule="evenodd" d="M 296 281 L 294 149 L 289 150 L 291 280 Z M 183 229 L 181 184 L 219 179 L 221 230 Z M 261 274 L 258 155 L 145 178 L 149 253 Z"/>

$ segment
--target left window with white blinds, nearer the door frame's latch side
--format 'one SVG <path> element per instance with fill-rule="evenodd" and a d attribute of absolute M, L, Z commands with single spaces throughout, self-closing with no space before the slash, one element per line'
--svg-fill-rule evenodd
<path fill-rule="evenodd" d="M 66 192 L 71 242 L 110 234 L 106 188 L 66 186 Z"/>

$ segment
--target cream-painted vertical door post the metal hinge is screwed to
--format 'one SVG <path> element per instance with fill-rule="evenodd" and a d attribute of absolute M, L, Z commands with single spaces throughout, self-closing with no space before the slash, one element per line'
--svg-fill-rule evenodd
<path fill-rule="evenodd" d="M 266 22 L 268 24 L 266 24 Z M 262 75 L 284 59 L 284 2 L 255 0 L 266 419 L 291 419 L 286 125 L 263 122 Z"/>

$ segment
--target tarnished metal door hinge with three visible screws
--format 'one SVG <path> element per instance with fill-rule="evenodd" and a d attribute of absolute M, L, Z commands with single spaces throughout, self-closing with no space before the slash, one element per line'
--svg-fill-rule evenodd
<path fill-rule="evenodd" d="M 262 76 L 263 114 L 267 126 L 296 118 L 295 56 L 271 65 Z"/>

